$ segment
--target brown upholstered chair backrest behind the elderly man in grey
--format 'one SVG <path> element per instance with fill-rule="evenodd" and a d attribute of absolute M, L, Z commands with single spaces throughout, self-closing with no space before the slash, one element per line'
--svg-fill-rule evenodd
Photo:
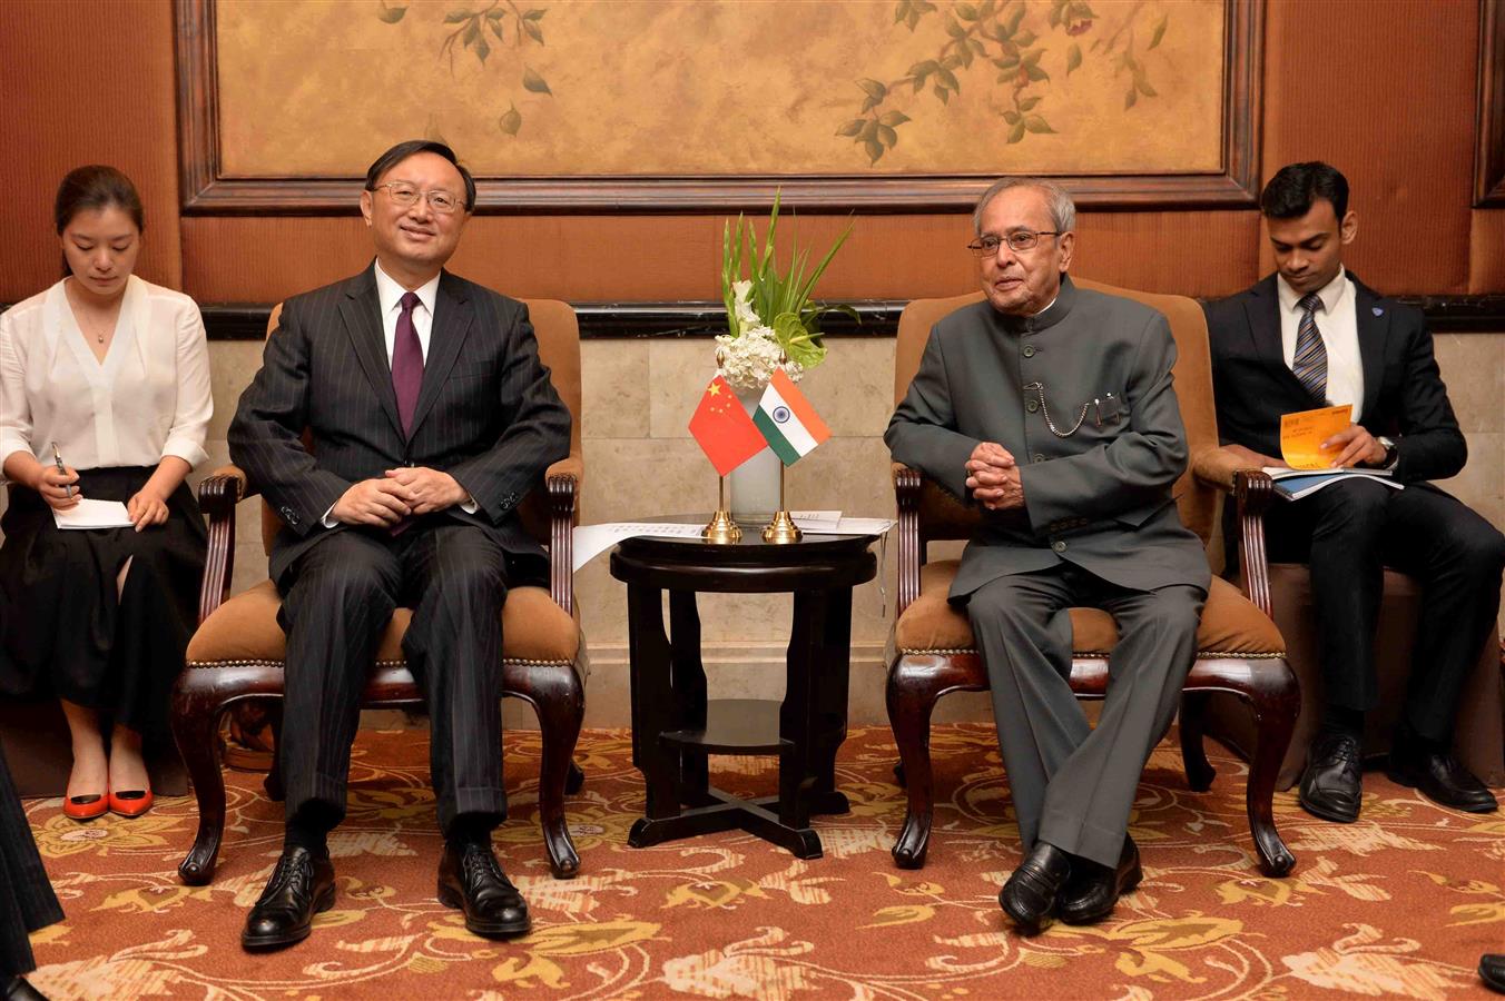
<path fill-rule="evenodd" d="M 1207 350 L 1207 317 L 1195 299 L 1168 296 L 1133 289 L 1115 289 L 1085 278 L 1073 278 L 1078 289 L 1091 289 L 1144 302 L 1165 314 L 1175 338 L 1175 398 L 1186 424 L 1187 464 L 1175 482 L 1175 504 L 1186 528 L 1206 544 L 1218 526 L 1218 491 L 1192 475 L 1195 458 L 1218 448 L 1218 416 L 1213 410 L 1213 370 Z M 978 302 L 981 292 L 950 299 L 915 299 L 898 317 L 898 341 L 894 349 L 894 404 L 897 406 L 920 370 L 930 328 L 965 305 Z M 932 540 L 969 538 L 978 513 L 966 508 L 932 482 L 926 482 L 920 502 L 921 546 Z"/>

